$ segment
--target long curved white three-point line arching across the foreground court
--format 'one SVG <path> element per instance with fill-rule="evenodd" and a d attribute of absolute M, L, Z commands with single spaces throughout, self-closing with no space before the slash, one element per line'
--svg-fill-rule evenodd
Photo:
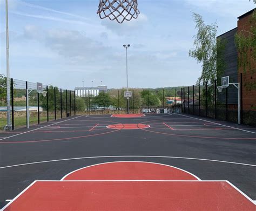
<path fill-rule="evenodd" d="M 93 159 L 93 158 L 173 158 L 173 159 L 187 159 L 187 160 L 224 162 L 226 164 L 237 164 L 237 165 L 256 167 L 256 165 L 242 164 L 240 162 L 229 162 L 229 161 L 223 161 L 223 160 L 210 160 L 210 159 L 201 159 L 201 158 L 185 158 L 185 157 L 176 157 L 176 156 L 150 156 L 150 155 L 119 155 L 119 156 L 91 156 L 91 157 L 82 157 L 82 158 L 67 158 L 67 159 L 59 159 L 59 160 L 46 160 L 46 161 L 39 161 L 39 162 L 29 162 L 29 163 L 26 163 L 26 164 L 3 166 L 3 167 L 0 167 L 0 169 L 17 167 L 17 166 L 33 165 L 33 164 L 44 164 L 46 162 L 58 162 L 58 161 L 67 161 L 67 160 L 82 160 L 82 159 Z"/>

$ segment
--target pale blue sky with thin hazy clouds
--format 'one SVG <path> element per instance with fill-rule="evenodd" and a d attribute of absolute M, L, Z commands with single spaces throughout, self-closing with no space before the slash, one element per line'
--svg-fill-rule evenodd
<path fill-rule="evenodd" d="M 98 0 L 8 0 L 10 77 L 63 89 L 155 88 L 196 83 L 201 64 L 188 56 L 192 12 L 218 35 L 253 9 L 248 0 L 138 0 L 140 15 L 118 24 L 97 15 Z M 0 0 L 0 73 L 6 74 L 5 0 Z M 93 83 L 92 83 L 93 81 Z M 102 81 L 102 83 L 101 83 Z"/>

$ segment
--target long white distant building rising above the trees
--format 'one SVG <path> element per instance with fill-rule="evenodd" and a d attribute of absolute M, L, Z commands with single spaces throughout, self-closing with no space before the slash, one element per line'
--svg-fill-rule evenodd
<path fill-rule="evenodd" d="M 99 92 L 107 92 L 107 86 L 75 87 L 75 92 L 78 97 L 96 97 Z"/>

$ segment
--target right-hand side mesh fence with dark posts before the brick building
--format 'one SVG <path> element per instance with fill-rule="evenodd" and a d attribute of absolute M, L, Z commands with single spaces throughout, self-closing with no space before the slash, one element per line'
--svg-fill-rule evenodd
<path fill-rule="evenodd" d="M 243 100 L 246 91 L 242 84 L 242 73 L 240 74 L 240 114 L 241 124 L 256 126 L 256 109 L 248 106 Z M 212 85 L 199 84 L 181 89 L 183 113 L 200 115 L 224 121 L 238 122 L 238 89 L 230 85 L 221 92 L 217 89 L 218 83 Z"/>

